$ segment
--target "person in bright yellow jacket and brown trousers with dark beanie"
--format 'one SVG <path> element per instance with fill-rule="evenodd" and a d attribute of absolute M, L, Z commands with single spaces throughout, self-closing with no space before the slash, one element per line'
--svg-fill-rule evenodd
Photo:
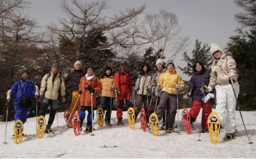
<path fill-rule="evenodd" d="M 184 89 L 184 82 L 179 73 L 176 73 L 173 62 L 168 62 L 166 71 L 164 71 L 158 81 L 158 91 L 161 92 L 160 103 L 156 114 L 161 120 L 162 114 L 166 109 L 166 127 L 165 130 L 172 132 L 175 116 L 177 113 L 177 93 Z"/>

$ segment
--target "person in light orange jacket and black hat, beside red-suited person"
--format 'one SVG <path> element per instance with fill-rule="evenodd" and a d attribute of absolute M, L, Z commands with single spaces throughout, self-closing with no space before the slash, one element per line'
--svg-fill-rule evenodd
<path fill-rule="evenodd" d="M 105 67 L 105 72 L 100 78 L 100 82 L 102 84 L 102 91 L 100 95 L 101 101 L 99 107 L 101 107 L 104 111 L 106 110 L 105 124 L 111 125 L 111 108 L 113 105 L 113 100 L 116 98 L 114 75 L 111 67 Z"/>

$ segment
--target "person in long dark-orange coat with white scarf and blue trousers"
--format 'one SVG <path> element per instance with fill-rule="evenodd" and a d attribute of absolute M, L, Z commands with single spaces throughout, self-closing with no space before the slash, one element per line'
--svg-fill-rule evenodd
<path fill-rule="evenodd" d="M 79 94 L 81 110 L 79 112 L 80 117 L 80 129 L 82 130 L 83 121 L 85 119 L 85 111 L 88 111 L 87 115 L 87 127 L 86 132 L 92 131 L 92 120 L 94 119 L 94 112 L 92 112 L 92 106 L 96 107 L 96 95 L 101 93 L 102 87 L 100 80 L 94 74 L 95 67 L 88 65 L 86 67 L 86 75 L 80 79 Z M 93 101 L 92 101 L 93 99 Z"/>

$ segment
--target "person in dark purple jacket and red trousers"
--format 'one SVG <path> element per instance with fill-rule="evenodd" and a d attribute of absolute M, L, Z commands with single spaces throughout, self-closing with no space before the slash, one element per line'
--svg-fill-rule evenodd
<path fill-rule="evenodd" d="M 202 87 L 202 85 L 208 86 L 210 79 L 210 71 L 205 70 L 205 67 L 201 62 L 195 62 L 195 64 L 193 64 L 192 66 L 192 69 L 194 71 L 194 74 L 190 79 L 188 93 L 189 97 L 192 96 L 192 108 L 190 109 L 191 126 L 193 127 L 192 123 L 196 120 L 200 112 L 200 109 L 203 105 L 201 132 L 209 132 L 207 126 L 207 119 L 210 113 L 212 112 L 211 106 L 214 102 L 214 94 L 212 91 L 205 94 L 204 96 L 200 88 Z"/>

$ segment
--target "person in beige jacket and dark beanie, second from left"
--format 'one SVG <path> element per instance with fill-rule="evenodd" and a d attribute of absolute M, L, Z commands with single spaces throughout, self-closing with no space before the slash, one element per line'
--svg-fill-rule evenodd
<path fill-rule="evenodd" d="M 51 126 L 53 124 L 56 111 L 59 106 L 58 96 L 59 91 L 62 96 L 62 102 L 65 102 L 65 82 L 64 78 L 59 72 L 59 63 L 54 62 L 51 67 L 51 73 L 47 73 L 43 76 L 41 81 L 41 87 L 39 92 L 38 101 L 41 102 L 39 116 L 45 116 L 48 104 L 51 104 L 50 115 L 48 124 L 46 125 L 45 133 L 51 132 Z"/>

